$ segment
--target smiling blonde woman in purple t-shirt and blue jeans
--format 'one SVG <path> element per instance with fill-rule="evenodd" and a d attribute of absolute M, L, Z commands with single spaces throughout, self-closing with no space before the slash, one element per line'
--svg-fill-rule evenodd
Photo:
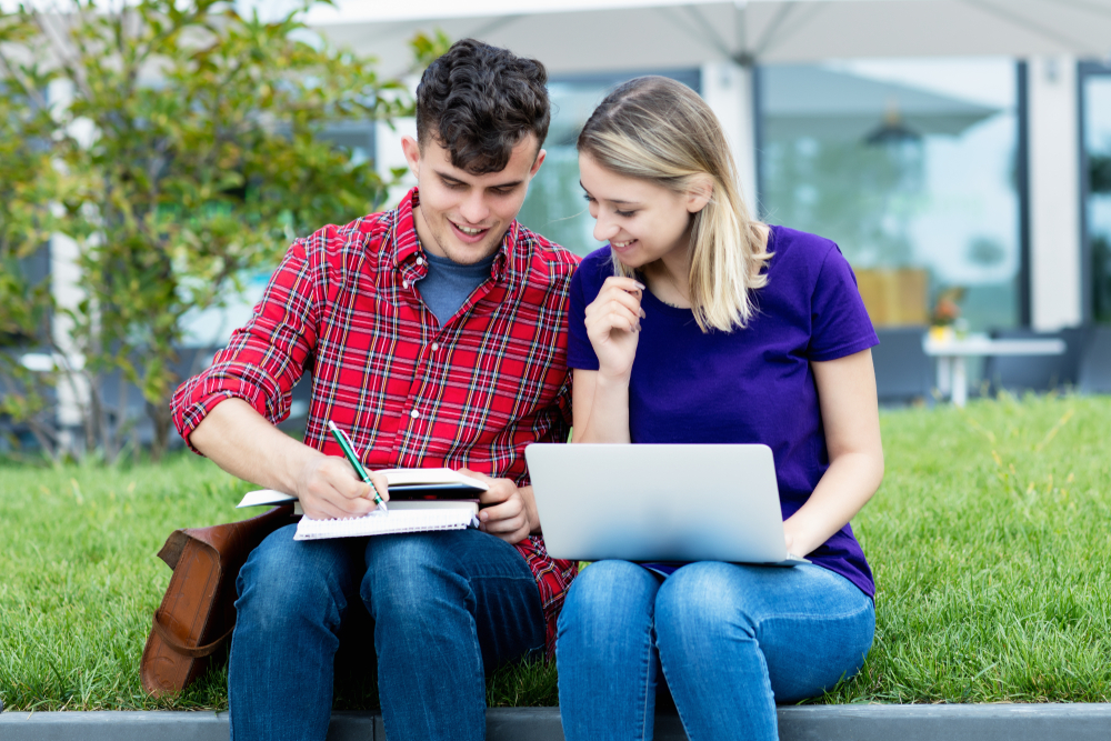
<path fill-rule="evenodd" d="M 851 677 L 872 643 L 849 520 L 883 477 L 878 340 L 833 242 L 749 217 L 721 127 L 687 87 L 621 86 L 578 148 L 609 244 L 571 284 L 574 442 L 771 447 L 788 550 L 812 564 L 588 567 L 559 620 L 563 731 L 650 739 L 665 680 L 692 741 L 770 741 L 775 702 Z"/>

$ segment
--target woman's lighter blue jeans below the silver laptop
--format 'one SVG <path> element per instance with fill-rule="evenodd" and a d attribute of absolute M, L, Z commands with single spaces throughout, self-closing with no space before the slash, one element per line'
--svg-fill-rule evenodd
<path fill-rule="evenodd" d="M 774 741 L 775 701 L 854 674 L 874 629 L 872 601 L 821 567 L 704 561 L 662 580 L 628 561 L 592 563 L 559 618 L 563 733 L 651 739 L 662 668 L 691 741 Z"/>

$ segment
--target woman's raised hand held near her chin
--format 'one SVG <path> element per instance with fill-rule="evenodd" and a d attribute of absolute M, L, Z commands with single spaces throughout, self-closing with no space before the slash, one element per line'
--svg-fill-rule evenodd
<path fill-rule="evenodd" d="M 628 379 L 637 356 L 640 299 L 644 287 L 632 278 L 607 278 L 598 297 L 587 307 L 587 337 L 598 356 L 598 371 L 607 378 Z"/>

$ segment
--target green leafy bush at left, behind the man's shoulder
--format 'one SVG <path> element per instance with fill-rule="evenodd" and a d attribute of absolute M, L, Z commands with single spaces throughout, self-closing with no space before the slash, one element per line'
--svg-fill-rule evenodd
<path fill-rule="evenodd" d="M 313 37 L 304 9 L 268 21 L 218 0 L 73 0 L 62 14 L 0 16 L 0 256 L 18 262 L 60 232 L 81 276 L 80 300 L 53 307 L 71 328 L 58 337 L 24 309 L 49 291 L 6 263 L 0 332 L 70 361 L 54 378 L 78 377 L 87 450 L 113 458 L 127 433 L 126 398 L 103 403 L 116 373 L 141 390 L 164 450 L 183 318 L 276 264 L 291 239 L 386 196 L 372 163 L 321 132 L 409 114 L 407 89 Z M 24 391 L 22 410 L 14 398 L 0 411 L 41 409 L 41 394 Z"/>

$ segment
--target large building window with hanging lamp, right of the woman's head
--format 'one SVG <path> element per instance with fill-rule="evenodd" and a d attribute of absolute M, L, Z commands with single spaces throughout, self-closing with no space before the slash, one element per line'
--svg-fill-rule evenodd
<path fill-rule="evenodd" d="M 761 216 L 834 240 L 874 324 L 928 323 L 943 294 L 970 329 L 1021 322 L 1013 61 L 758 74 Z"/>

